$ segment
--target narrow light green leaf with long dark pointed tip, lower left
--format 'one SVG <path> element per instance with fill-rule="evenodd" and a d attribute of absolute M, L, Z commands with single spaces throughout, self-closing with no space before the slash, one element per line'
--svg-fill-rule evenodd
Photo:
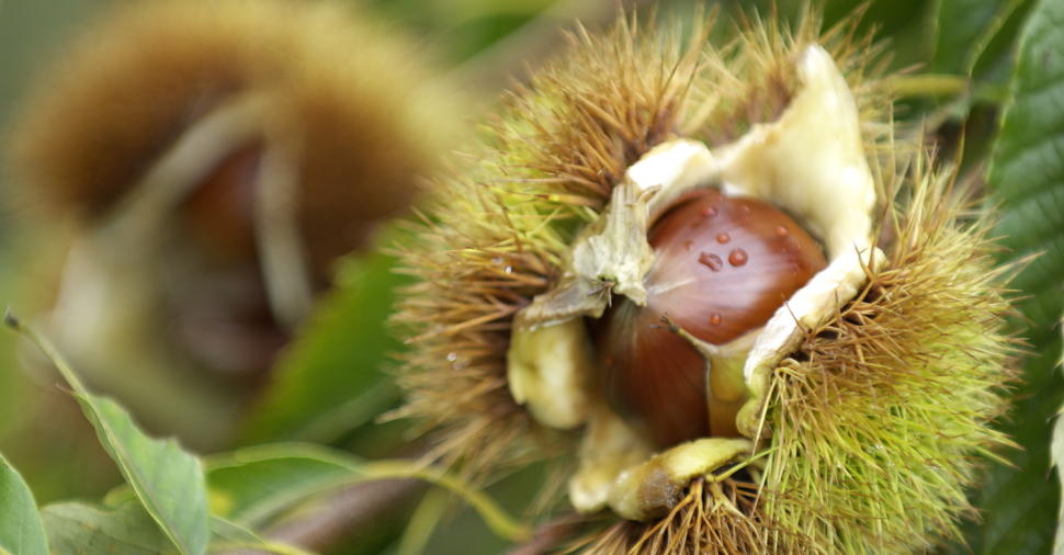
<path fill-rule="evenodd" d="M 206 553 L 211 531 L 206 484 L 200 460 L 172 439 L 156 440 L 142 432 L 117 403 L 91 394 L 56 349 L 10 314 L 5 321 L 22 331 L 52 360 L 73 389 L 86 418 L 107 454 L 136 492 L 137 499 L 180 553 Z"/>

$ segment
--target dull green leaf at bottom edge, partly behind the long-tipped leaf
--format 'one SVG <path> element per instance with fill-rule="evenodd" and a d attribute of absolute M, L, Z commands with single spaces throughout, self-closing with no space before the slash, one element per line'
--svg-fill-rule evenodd
<path fill-rule="evenodd" d="M 173 544 L 138 503 L 107 510 L 64 502 L 45 507 L 41 516 L 54 555 L 174 553 Z"/>

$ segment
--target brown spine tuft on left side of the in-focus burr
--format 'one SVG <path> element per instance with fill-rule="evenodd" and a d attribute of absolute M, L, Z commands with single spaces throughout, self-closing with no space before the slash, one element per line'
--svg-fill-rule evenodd
<path fill-rule="evenodd" d="M 396 319 L 419 335 L 405 355 L 399 382 L 407 403 L 399 414 L 439 427 L 433 456 L 462 461 L 474 474 L 529 456 L 536 424 L 510 396 L 505 354 L 510 320 L 545 287 L 546 264 L 503 246 L 410 256 L 421 262 L 421 281 L 406 292 Z"/>

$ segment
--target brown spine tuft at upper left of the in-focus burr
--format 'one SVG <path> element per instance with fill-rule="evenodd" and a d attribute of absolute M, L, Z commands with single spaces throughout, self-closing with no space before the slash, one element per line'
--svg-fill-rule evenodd
<path fill-rule="evenodd" d="M 654 36 L 653 21 L 642 25 L 633 16 L 604 36 L 578 29 L 570 55 L 509 98 L 494 146 L 513 177 L 542 184 L 530 193 L 600 211 L 625 169 L 676 135 L 708 25 L 695 23 L 686 48 L 678 36 Z"/>

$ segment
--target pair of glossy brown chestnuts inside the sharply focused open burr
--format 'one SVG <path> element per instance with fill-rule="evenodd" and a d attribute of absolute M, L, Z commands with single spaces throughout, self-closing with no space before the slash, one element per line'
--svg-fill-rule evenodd
<path fill-rule="evenodd" d="M 724 235 L 728 240 L 718 241 Z M 826 265 L 820 246 L 771 204 L 713 189 L 684 195 L 648 240 L 655 261 L 644 283 L 647 306 L 619 298 L 593 326 L 607 396 L 659 448 L 734 434 L 710 430 L 705 362 L 663 317 L 709 343 L 738 339 Z"/>

